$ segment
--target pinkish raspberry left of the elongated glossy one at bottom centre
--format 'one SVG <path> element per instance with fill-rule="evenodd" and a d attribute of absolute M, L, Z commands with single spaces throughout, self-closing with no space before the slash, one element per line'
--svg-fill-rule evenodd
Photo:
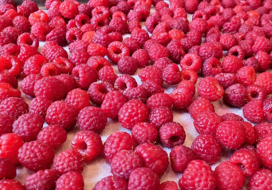
<path fill-rule="evenodd" d="M 132 150 L 121 150 L 111 161 L 111 173 L 128 180 L 131 172 L 144 167 L 144 160 Z"/>

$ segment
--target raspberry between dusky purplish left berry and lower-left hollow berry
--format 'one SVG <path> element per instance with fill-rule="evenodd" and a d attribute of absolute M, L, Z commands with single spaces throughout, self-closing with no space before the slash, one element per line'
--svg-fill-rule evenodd
<path fill-rule="evenodd" d="M 37 135 L 37 140 L 51 148 L 57 148 L 66 141 L 67 132 L 59 125 L 48 125 Z"/>

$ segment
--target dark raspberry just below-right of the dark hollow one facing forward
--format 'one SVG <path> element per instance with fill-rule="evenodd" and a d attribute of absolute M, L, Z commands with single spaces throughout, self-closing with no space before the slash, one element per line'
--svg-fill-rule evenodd
<path fill-rule="evenodd" d="M 192 160 L 196 159 L 196 154 L 192 149 L 184 145 L 175 146 L 170 152 L 172 169 L 176 172 L 183 172 Z"/>

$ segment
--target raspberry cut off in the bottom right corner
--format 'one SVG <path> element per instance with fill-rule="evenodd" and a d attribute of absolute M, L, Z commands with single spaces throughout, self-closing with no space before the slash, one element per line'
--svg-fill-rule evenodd
<path fill-rule="evenodd" d="M 248 181 L 248 188 L 250 190 L 269 189 L 271 187 L 270 181 L 272 179 L 272 172 L 268 169 L 259 169 Z"/>

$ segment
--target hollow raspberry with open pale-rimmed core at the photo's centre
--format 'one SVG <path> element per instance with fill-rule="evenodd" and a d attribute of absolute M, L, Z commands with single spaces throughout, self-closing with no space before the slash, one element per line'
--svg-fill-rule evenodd
<path fill-rule="evenodd" d="M 134 88 L 137 87 L 137 85 L 138 84 L 133 77 L 128 74 L 123 74 L 116 79 L 114 88 L 119 92 L 124 93 L 127 88 Z"/>

